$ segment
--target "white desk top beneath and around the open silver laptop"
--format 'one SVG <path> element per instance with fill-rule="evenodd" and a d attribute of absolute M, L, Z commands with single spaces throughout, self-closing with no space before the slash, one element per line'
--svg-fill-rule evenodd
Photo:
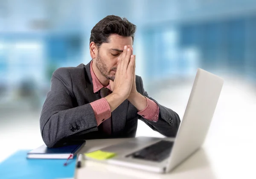
<path fill-rule="evenodd" d="M 124 142 L 125 140 L 129 139 L 87 140 L 81 152 L 88 153 L 109 145 Z M 215 172 L 210 165 L 211 162 L 204 148 L 201 148 L 186 162 L 183 162 L 175 170 L 167 174 L 149 173 L 142 170 L 86 160 L 83 162 L 82 167 L 76 170 L 76 179 L 216 179 Z"/>

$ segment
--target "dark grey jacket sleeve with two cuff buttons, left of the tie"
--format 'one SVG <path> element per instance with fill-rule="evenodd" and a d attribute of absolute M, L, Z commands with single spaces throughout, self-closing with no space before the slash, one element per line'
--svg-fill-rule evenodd
<path fill-rule="evenodd" d="M 41 111 L 40 129 L 49 148 L 81 131 L 85 134 L 98 130 L 90 103 L 77 106 L 67 68 L 58 68 L 52 74 L 51 88 Z"/>

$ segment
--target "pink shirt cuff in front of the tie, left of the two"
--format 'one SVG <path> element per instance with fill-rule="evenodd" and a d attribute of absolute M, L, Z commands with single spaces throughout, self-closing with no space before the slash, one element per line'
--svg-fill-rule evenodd
<path fill-rule="evenodd" d="M 105 119 L 111 117 L 111 108 L 107 99 L 101 98 L 90 103 L 95 114 L 97 126 L 99 126 Z"/>

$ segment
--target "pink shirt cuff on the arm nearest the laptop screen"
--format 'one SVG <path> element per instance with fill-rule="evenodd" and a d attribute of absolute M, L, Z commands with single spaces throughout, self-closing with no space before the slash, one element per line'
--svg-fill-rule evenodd
<path fill-rule="evenodd" d="M 151 99 L 148 99 L 147 97 L 145 98 L 147 99 L 147 106 L 142 111 L 139 111 L 138 114 L 145 119 L 157 122 L 159 117 L 159 106 Z"/>

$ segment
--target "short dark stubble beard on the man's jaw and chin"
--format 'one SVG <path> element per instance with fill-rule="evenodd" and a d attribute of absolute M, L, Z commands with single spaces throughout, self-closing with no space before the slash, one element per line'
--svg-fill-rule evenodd
<path fill-rule="evenodd" d="M 111 68 L 110 71 L 108 71 L 108 67 L 104 60 L 100 57 L 99 53 L 96 57 L 96 67 L 99 69 L 99 72 L 108 80 L 115 80 L 115 75 L 111 75 L 112 70 L 116 70 L 116 67 Z"/>

